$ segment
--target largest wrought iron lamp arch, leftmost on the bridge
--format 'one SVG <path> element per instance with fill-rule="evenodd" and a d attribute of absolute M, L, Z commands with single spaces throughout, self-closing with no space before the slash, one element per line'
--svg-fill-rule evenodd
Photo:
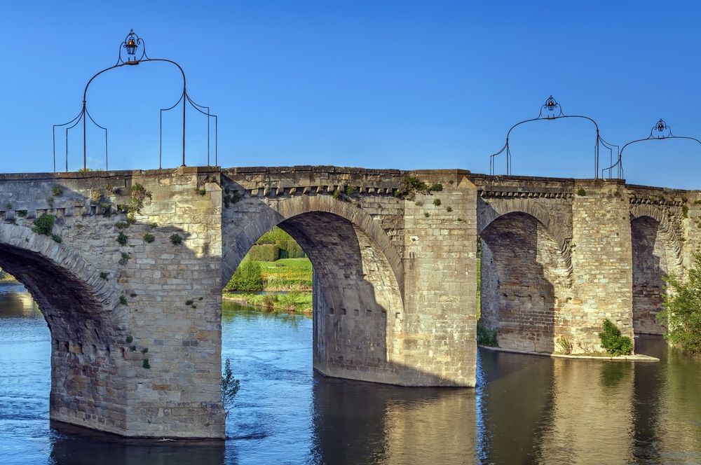
<path fill-rule="evenodd" d="M 141 55 L 137 58 L 137 50 L 139 47 L 142 47 L 141 50 Z M 126 60 L 123 59 L 122 57 L 122 50 L 126 50 Z M 53 170 L 56 172 L 56 128 L 57 127 L 66 127 L 65 130 L 65 137 L 66 137 L 66 171 L 68 171 L 68 132 L 69 130 L 72 130 L 74 127 L 79 125 L 79 123 L 83 123 L 83 170 L 87 169 L 87 141 L 86 141 L 86 134 L 87 134 L 87 120 L 90 118 L 90 121 L 93 122 L 93 124 L 97 127 L 99 127 L 101 130 L 104 131 L 104 158 L 105 158 L 105 168 L 109 169 L 109 158 L 108 158 L 108 152 L 107 152 L 107 127 L 102 127 L 99 125 L 93 116 L 90 115 L 90 112 L 88 111 L 88 106 L 87 106 L 87 96 L 88 96 L 88 88 L 90 87 L 90 83 L 92 83 L 97 76 L 100 76 L 101 74 L 110 71 L 111 69 L 116 69 L 119 67 L 123 67 L 125 65 L 137 65 L 142 62 L 167 62 L 170 64 L 174 64 L 175 67 L 180 71 L 180 74 L 182 76 L 182 94 L 180 95 L 179 99 L 177 102 L 175 102 L 174 105 L 170 106 L 167 109 L 161 109 L 161 118 L 160 118 L 160 134 L 159 134 L 159 154 L 158 154 L 158 168 L 162 169 L 163 168 L 163 112 L 164 111 L 170 111 L 172 109 L 175 109 L 181 102 L 182 102 L 182 166 L 185 166 L 185 117 L 186 117 L 186 103 L 189 103 L 193 109 L 198 111 L 199 113 L 202 113 L 203 115 L 207 116 L 207 166 L 210 165 L 210 120 L 214 118 L 215 120 L 215 165 L 219 164 L 219 155 L 218 155 L 218 118 L 217 115 L 213 115 L 210 113 L 210 107 L 209 106 L 203 106 L 200 104 L 197 104 L 196 102 L 193 102 L 193 100 L 190 98 L 190 96 L 187 93 L 187 85 L 186 85 L 186 77 L 185 77 L 185 71 L 182 69 L 182 67 L 177 64 L 177 62 L 174 62 L 172 60 L 168 60 L 165 58 L 150 58 L 147 53 L 146 53 L 146 43 L 144 39 L 140 38 L 135 32 L 134 29 L 131 29 L 129 34 L 125 37 L 123 43 L 120 44 L 119 50 L 118 50 L 118 55 L 117 55 L 117 62 L 113 66 L 109 68 L 102 69 L 102 71 L 97 72 L 96 74 L 93 75 L 93 77 L 90 78 L 88 83 L 86 84 L 85 90 L 83 90 L 83 109 L 81 112 L 70 120 L 68 123 L 63 123 L 60 125 L 53 125 Z"/>

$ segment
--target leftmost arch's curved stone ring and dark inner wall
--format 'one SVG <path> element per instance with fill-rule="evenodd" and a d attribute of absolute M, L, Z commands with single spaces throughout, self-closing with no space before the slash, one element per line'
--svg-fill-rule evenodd
<path fill-rule="evenodd" d="M 100 271 L 50 237 L 0 224 L 0 266 L 25 285 L 51 333 L 50 417 L 118 432 L 125 408 L 105 395 L 119 296 Z M 98 382 L 102 380 L 102 382 Z M 118 397 L 118 396 L 115 396 Z M 105 422 L 111 426 L 105 426 Z"/>

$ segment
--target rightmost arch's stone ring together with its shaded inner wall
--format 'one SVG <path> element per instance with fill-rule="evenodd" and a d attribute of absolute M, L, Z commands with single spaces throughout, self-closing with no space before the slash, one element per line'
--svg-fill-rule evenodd
<path fill-rule="evenodd" d="M 631 208 L 633 331 L 662 334 L 655 320 L 662 310 L 663 276 L 681 270 L 681 242 L 663 211 L 648 204 Z"/>

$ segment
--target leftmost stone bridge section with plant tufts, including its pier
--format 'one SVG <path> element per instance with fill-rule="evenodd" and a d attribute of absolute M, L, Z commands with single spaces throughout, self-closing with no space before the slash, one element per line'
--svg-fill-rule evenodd
<path fill-rule="evenodd" d="M 184 168 L 1 180 L 0 263 L 50 328 L 52 419 L 125 436 L 224 436 L 221 190 L 207 182 L 217 176 Z M 128 224 L 137 183 L 151 198 Z M 42 214 L 55 216 L 55 240 L 32 232 Z"/>

